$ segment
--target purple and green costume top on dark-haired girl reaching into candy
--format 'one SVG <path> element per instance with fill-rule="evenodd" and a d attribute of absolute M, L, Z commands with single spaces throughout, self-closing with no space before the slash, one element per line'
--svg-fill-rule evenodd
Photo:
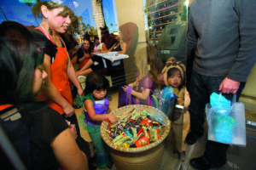
<path fill-rule="evenodd" d="M 91 99 L 93 101 L 93 107 L 94 107 L 94 110 L 95 110 L 96 114 L 104 115 L 104 114 L 108 113 L 109 103 L 108 103 L 107 98 L 95 101 L 95 99 L 93 99 L 93 97 L 92 97 L 92 94 L 87 94 L 85 96 L 85 99 Z M 100 127 L 101 126 L 102 122 L 92 121 L 90 119 L 90 116 L 88 115 L 88 112 L 85 109 L 84 109 L 84 116 L 85 116 L 84 122 L 87 125 L 90 125 L 91 127 Z"/>

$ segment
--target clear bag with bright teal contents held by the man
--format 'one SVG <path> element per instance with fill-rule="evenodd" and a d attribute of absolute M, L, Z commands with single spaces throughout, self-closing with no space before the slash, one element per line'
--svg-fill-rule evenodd
<path fill-rule="evenodd" d="M 246 146 L 244 104 L 236 102 L 236 94 L 232 102 L 215 93 L 210 100 L 206 105 L 208 140 Z"/>

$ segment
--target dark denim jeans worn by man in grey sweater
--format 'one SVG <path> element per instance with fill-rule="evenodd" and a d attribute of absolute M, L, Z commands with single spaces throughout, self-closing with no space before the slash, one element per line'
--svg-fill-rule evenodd
<path fill-rule="evenodd" d="M 190 95 L 190 130 L 198 138 L 204 133 L 203 124 L 205 122 L 205 107 L 210 102 L 210 95 L 218 91 L 220 83 L 224 80 L 223 77 L 208 77 L 198 74 L 196 71 L 192 71 L 192 76 L 189 85 Z M 239 89 L 236 92 L 236 101 L 238 101 L 241 91 L 245 86 L 245 82 L 241 82 Z M 222 94 L 226 99 L 232 100 L 233 94 Z M 222 144 L 213 141 L 207 141 L 207 148 L 204 156 L 213 166 L 221 166 L 226 162 L 226 150 L 229 144 Z"/>

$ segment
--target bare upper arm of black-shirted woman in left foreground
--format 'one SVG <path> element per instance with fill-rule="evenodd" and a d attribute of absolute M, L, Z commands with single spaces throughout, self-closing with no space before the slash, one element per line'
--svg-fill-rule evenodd
<path fill-rule="evenodd" d="M 61 169 L 88 170 L 88 161 L 84 152 L 79 150 L 69 128 L 61 132 L 50 144 Z"/>

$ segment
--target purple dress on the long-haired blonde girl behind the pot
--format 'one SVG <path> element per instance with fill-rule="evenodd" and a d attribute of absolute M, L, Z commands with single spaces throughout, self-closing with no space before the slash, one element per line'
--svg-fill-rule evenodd
<path fill-rule="evenodd" d="M 137 72 L 137 84 L 133 86 L 133 90 L 142 93 L 143 88 L 148 88 L 150 90 L 148 99 L 137 99 L 135 96 L 131 95 L 131 90 L 127 88 L 127 93 L 124 92 L 123 88 L 119 88 L 119 107 L 125 105 L 152 105 L 152 94 L 154 93 L 154 82 L 151 77 L 145 76 L 141 80 L 139 79 L 139 74 Z"/>

